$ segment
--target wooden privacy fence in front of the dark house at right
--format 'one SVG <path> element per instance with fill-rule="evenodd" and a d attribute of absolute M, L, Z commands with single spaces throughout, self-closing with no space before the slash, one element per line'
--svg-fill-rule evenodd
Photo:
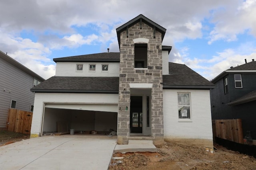
<path fill-rule="evenodd" d="M 212 120 L 213 137 L 244 143 L 241 119 Z"/>

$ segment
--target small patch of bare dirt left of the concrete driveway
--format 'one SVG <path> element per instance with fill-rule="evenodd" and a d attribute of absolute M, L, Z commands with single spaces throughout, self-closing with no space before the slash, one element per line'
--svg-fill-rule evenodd
<path fill-rule="evenodd" d="M 30 135 L 0 130 L 0 147 L 10 143 L 29 139 Z"/>

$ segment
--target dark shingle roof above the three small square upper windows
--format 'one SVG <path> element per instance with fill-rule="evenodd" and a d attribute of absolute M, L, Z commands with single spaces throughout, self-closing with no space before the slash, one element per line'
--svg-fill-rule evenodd
<path fill-rule="evenodd" d="M 54 62 L 120 62 L 120 53 L 97 53 L 88 55 L 78 55 L 71 57 L 61 57 L 53 59 Z"/>

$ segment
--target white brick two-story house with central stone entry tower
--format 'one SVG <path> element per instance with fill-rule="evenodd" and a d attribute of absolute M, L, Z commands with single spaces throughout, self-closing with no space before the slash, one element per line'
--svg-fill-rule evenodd
<path fill-rule="evenodd" d="M 116 31 L 120 53 L 54 59 L 56 76 L 31 89 L 31 137 L 56 132 L 57 123 L 78 131 L 117 130 L 118 144 L 144 139 L 212 147 L 214 84 L 184 64 L 168 63 L 166 29 L 145 16 Z"/>

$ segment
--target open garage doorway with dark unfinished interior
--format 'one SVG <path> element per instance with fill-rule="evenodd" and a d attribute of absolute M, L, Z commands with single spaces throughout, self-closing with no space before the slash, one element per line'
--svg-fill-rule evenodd
<path fill-rule="evenodd" d="M 96 132 L 108 135 L 110 131 L 117 130 L 117 112 L 111 112 L 113 109 L 109 107 L 112 106 L 106 106 L 105 110 L 108 111 L 67 109 L 65 105 L 64 108 L 59 108 L 61 105 L 58 105 L 58 108 L 52 107 L 55 106 L 46 105 L 44 109 L 42 135 L 68 132 L 70 129 L 74 129 L 75 133 L 95 134 Z"/>

